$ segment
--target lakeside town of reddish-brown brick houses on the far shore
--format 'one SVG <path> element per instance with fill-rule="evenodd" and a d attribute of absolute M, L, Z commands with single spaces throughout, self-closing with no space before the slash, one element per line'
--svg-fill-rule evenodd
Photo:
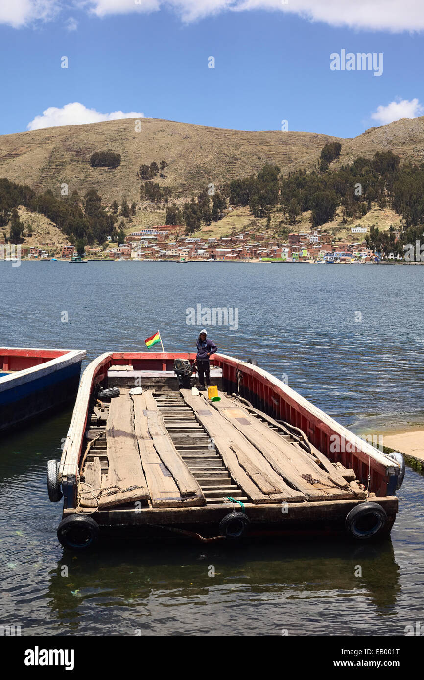
<path fill-rule="evenodd" d="M 181 235 L 181 225 L 154 225 L 125 237 L 124 243 L 106 248 L 86 246 L 84 253 L 77 253 L 76 246 L 62 245 L 60 254 L 52 257 L 50 250 L 56 243 L 40 246 L 22 246 L 21 257 L 27 260 L 71 260 L 81 256 L 87 260 L 154 260 L 154 261 L 218 261 L 218 262 L 316 262 L 361 264 L 381 261 L 380 254 L 368 248 L 363 240 L 366 228 L 351 229 L 357 241 L 336 241 L 331 234 L 316 228 L 311 231 L 289 233 L 287 240 L 269 233 L 244 233 L 221 237 L 190 237 Z M 397 238 L 398 233 L 395 234 Z M 108 237 L 110 240 L 110 237 Z M 389 260 L 403 260 L 402 256 L 389 255 Z"/>

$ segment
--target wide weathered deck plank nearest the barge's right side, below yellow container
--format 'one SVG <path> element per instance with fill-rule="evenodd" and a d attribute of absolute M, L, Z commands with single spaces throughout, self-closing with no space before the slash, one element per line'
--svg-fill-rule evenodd
<path fill-rule="evenodd" d="M 231 399 L 221 393 L 220 396 L 221 401 L 212 402 L 211 405 L 259 449 L 276 473 L 305 494 L 308 500 L 342 500 L 352 497 L 353 490 L 350 487 L 341 489 L 336 486 L 327 471 L 321 470 L 310 454 L 306 454 L 301 447 L 293 446 L 280 437 L 278 432 L 251 415 L 247 409 L 235 407 Z"/>

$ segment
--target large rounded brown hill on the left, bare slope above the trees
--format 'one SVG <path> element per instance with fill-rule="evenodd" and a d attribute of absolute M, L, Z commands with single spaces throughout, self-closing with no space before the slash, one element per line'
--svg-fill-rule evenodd
<path fill-rule="evenodd" d="M 336 137 L 306 132 L 245 132 L 203 127 L 168 120 L 112 120 L 0 136 L 0 177 L 29 184 L 35 190 L 51 189 L 60 196 L 61 184 L 84 194 L 94 187 L 103 201 L 140 199 L 140 165 L 166 160 L 163 186 L 174 197 L 189 196 L 211 182 L 257 172 L 265 163 L 289 168 L 319 155 Z M 340 140 L 342 141 L 342 140 Z M 116 151 L 122 163 L 116 169 L 92 168 L 91 154 Z"/>

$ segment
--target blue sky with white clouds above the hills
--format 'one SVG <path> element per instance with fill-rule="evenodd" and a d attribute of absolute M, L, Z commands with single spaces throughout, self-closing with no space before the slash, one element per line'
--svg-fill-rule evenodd
<path fill-rule="evenodd" d="M 423 47 L 424 0 L 0 0 L 0 134 L 146 116 L 355 137 L 424 115 Z"/>

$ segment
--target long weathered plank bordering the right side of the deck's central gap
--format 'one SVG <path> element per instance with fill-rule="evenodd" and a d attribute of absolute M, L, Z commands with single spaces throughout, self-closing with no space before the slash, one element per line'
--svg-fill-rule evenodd
<path fill-rule="evenodd" d="M 304 500 L 304 495 L 287 486 L 284 479 L 276 475 L 261 453 L 218 413 L 210 409 L 210 415 L 204 415 L 204 413 L 202 415 L 202 411 L 206 410 L 206 401 L 203 396 L 194 396 L 191 390 L 180 390 L 180 392 L 185 403 L 195 412 L 197 420 L 212 437 L 231 477 L 254 503 L 270 503 L 273 500 L 276 503 Z M 238 458 L 239 454 L 241 460 Z M 265 488 L 269 491 L 264 492 Z"/>

